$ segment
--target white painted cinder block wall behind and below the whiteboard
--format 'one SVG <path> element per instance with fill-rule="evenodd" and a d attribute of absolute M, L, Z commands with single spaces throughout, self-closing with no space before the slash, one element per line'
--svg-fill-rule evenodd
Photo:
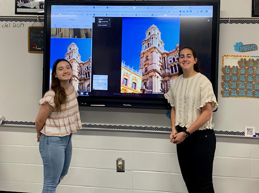
<path fill-rule="evenodd" d="M 221 17 L 250 17 L 252 0 L 222 0 Z M 14 1 L 0 1 L 0 16 L 14 15 Z M 69 174 L 58 193 L 187 192 L 168 134 L 78 131 Z M 43 166 L 35 130 L 0 127 L 0 191 L 41 192 Z M 259 192 L 259 140 L 217 137 L 217 193 Z M 125 159 L 125 173 L 115 170 Z"/>

